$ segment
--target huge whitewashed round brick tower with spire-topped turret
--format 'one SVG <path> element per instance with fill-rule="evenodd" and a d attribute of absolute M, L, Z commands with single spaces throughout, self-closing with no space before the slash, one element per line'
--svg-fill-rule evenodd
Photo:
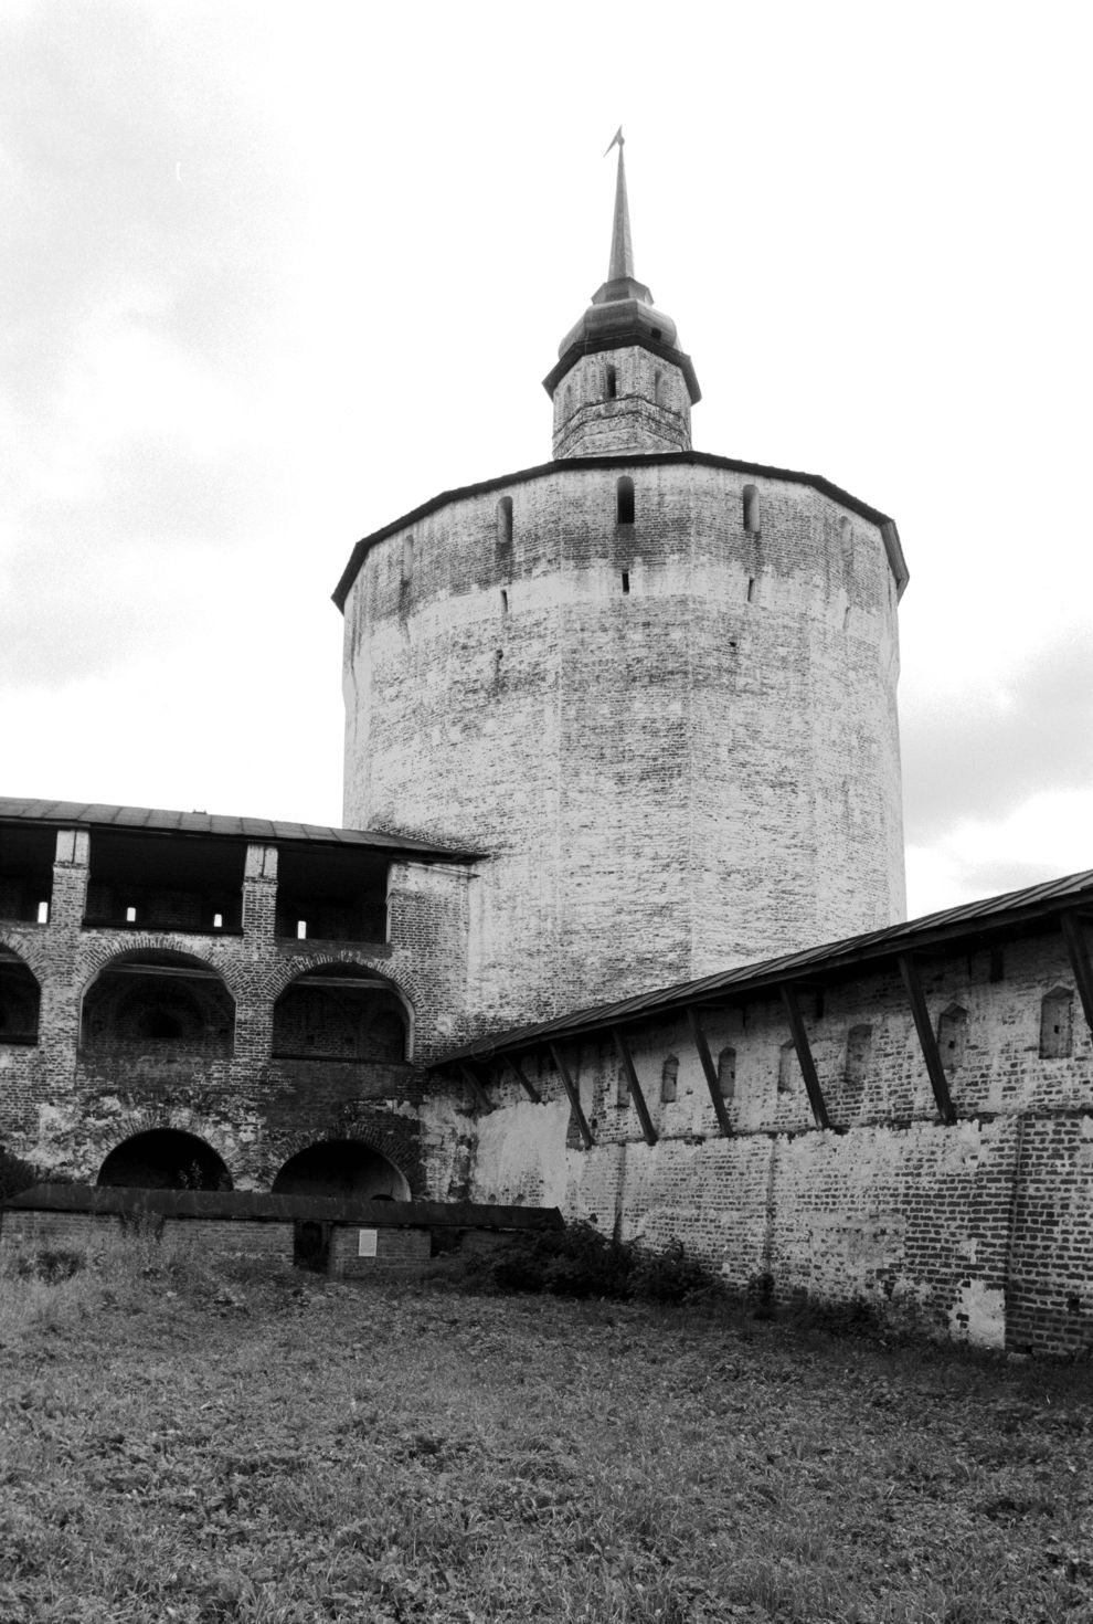
<path fill-rule="evenodd" d="M 905 909 L 895 525 L 690 450 L 622 151 L 607 281 L 546 388 L 554 461 L 395 520 L 335 593 L 346 823 L 484 853 L 476 1030 Z"/>

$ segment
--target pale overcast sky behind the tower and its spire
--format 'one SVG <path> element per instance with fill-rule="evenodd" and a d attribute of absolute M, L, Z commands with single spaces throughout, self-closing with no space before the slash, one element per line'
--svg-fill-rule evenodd
<path fill-rule="evenodd" d="M 1093 866 L 1085 8 L 5 0 L 3 793 L 341 818 L 352 542 L 638 276 L 890 513 L 911 914 Z"/>

